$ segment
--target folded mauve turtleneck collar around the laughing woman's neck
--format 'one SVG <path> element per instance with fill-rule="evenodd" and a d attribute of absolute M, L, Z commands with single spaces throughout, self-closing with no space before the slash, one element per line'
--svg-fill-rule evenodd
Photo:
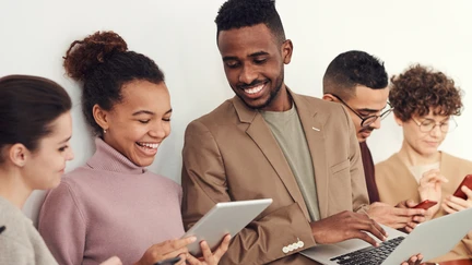
<path fill-rule="evenodd" d="M 101 137 L 95 138 L 95 154 L 86 162 L 93 169 L 132 174 L 140 174 L 146 171 L 144 167 L 134 165 Z"/>

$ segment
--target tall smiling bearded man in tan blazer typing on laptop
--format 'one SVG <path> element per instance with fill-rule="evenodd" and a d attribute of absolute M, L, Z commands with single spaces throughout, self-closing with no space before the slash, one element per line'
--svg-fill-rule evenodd
<path fill-rule="evenodd" d="M 317 243 L 385 231 L 368 205 L 354 125 L 339 104 L 284 84 L 293 45 L 270 0 L 229 0 L 216 17 L 217 46 L 236 96 L 192 121 L 182 150 L 186 229 L 215 203 L 273 198 L 232 241 L 221 264 L 316 264 Z"/>

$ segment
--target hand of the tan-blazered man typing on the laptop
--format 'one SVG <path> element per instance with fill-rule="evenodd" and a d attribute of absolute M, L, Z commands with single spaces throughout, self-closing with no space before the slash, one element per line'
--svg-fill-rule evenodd
<path fill-rule="evenodd" d="M 387 238 L 387 232 L 375 220 L 365 214 L 349 210 L 314 221 L 310 226 L 315 241 L 319 244 L 332 244 L 357 238 L 378 246 L 375 239 L 366 232 L 370 232 L 381 241 Z"/>

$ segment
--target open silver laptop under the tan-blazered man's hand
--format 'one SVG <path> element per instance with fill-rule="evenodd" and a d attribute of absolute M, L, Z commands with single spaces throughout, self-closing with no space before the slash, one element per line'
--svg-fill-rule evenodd
<path fill-rule="evenodd" d="M 359 239 L 316 245 L 300 254 L 321 264 L 399 265 L 421 253 L 429 261 L 449 252 L 472 230 L 472 208 L 418 225 L 410 234 L 382 226 L 389 238 L 379 248 Z"/>

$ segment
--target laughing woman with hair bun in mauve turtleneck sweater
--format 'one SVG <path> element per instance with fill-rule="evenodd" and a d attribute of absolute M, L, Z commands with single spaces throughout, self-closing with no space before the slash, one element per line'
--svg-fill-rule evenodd
<path fill-rule="evenodd" d="M 170 96 L 150 58 L 129 51 L 114 32 L 71 44 L 67 74 L 81 83 L 82 111 L 97 136 L 96 152 L 47 194 L 39 232 L 62 265 L 97 264 L 118 255 L 123 264 L 154 264 L 180 256 L 185 264 L 216 264 L 229 238 L 200 262 L 185 248 L 181 188 L 148 171 L 170 133 Z"/>

